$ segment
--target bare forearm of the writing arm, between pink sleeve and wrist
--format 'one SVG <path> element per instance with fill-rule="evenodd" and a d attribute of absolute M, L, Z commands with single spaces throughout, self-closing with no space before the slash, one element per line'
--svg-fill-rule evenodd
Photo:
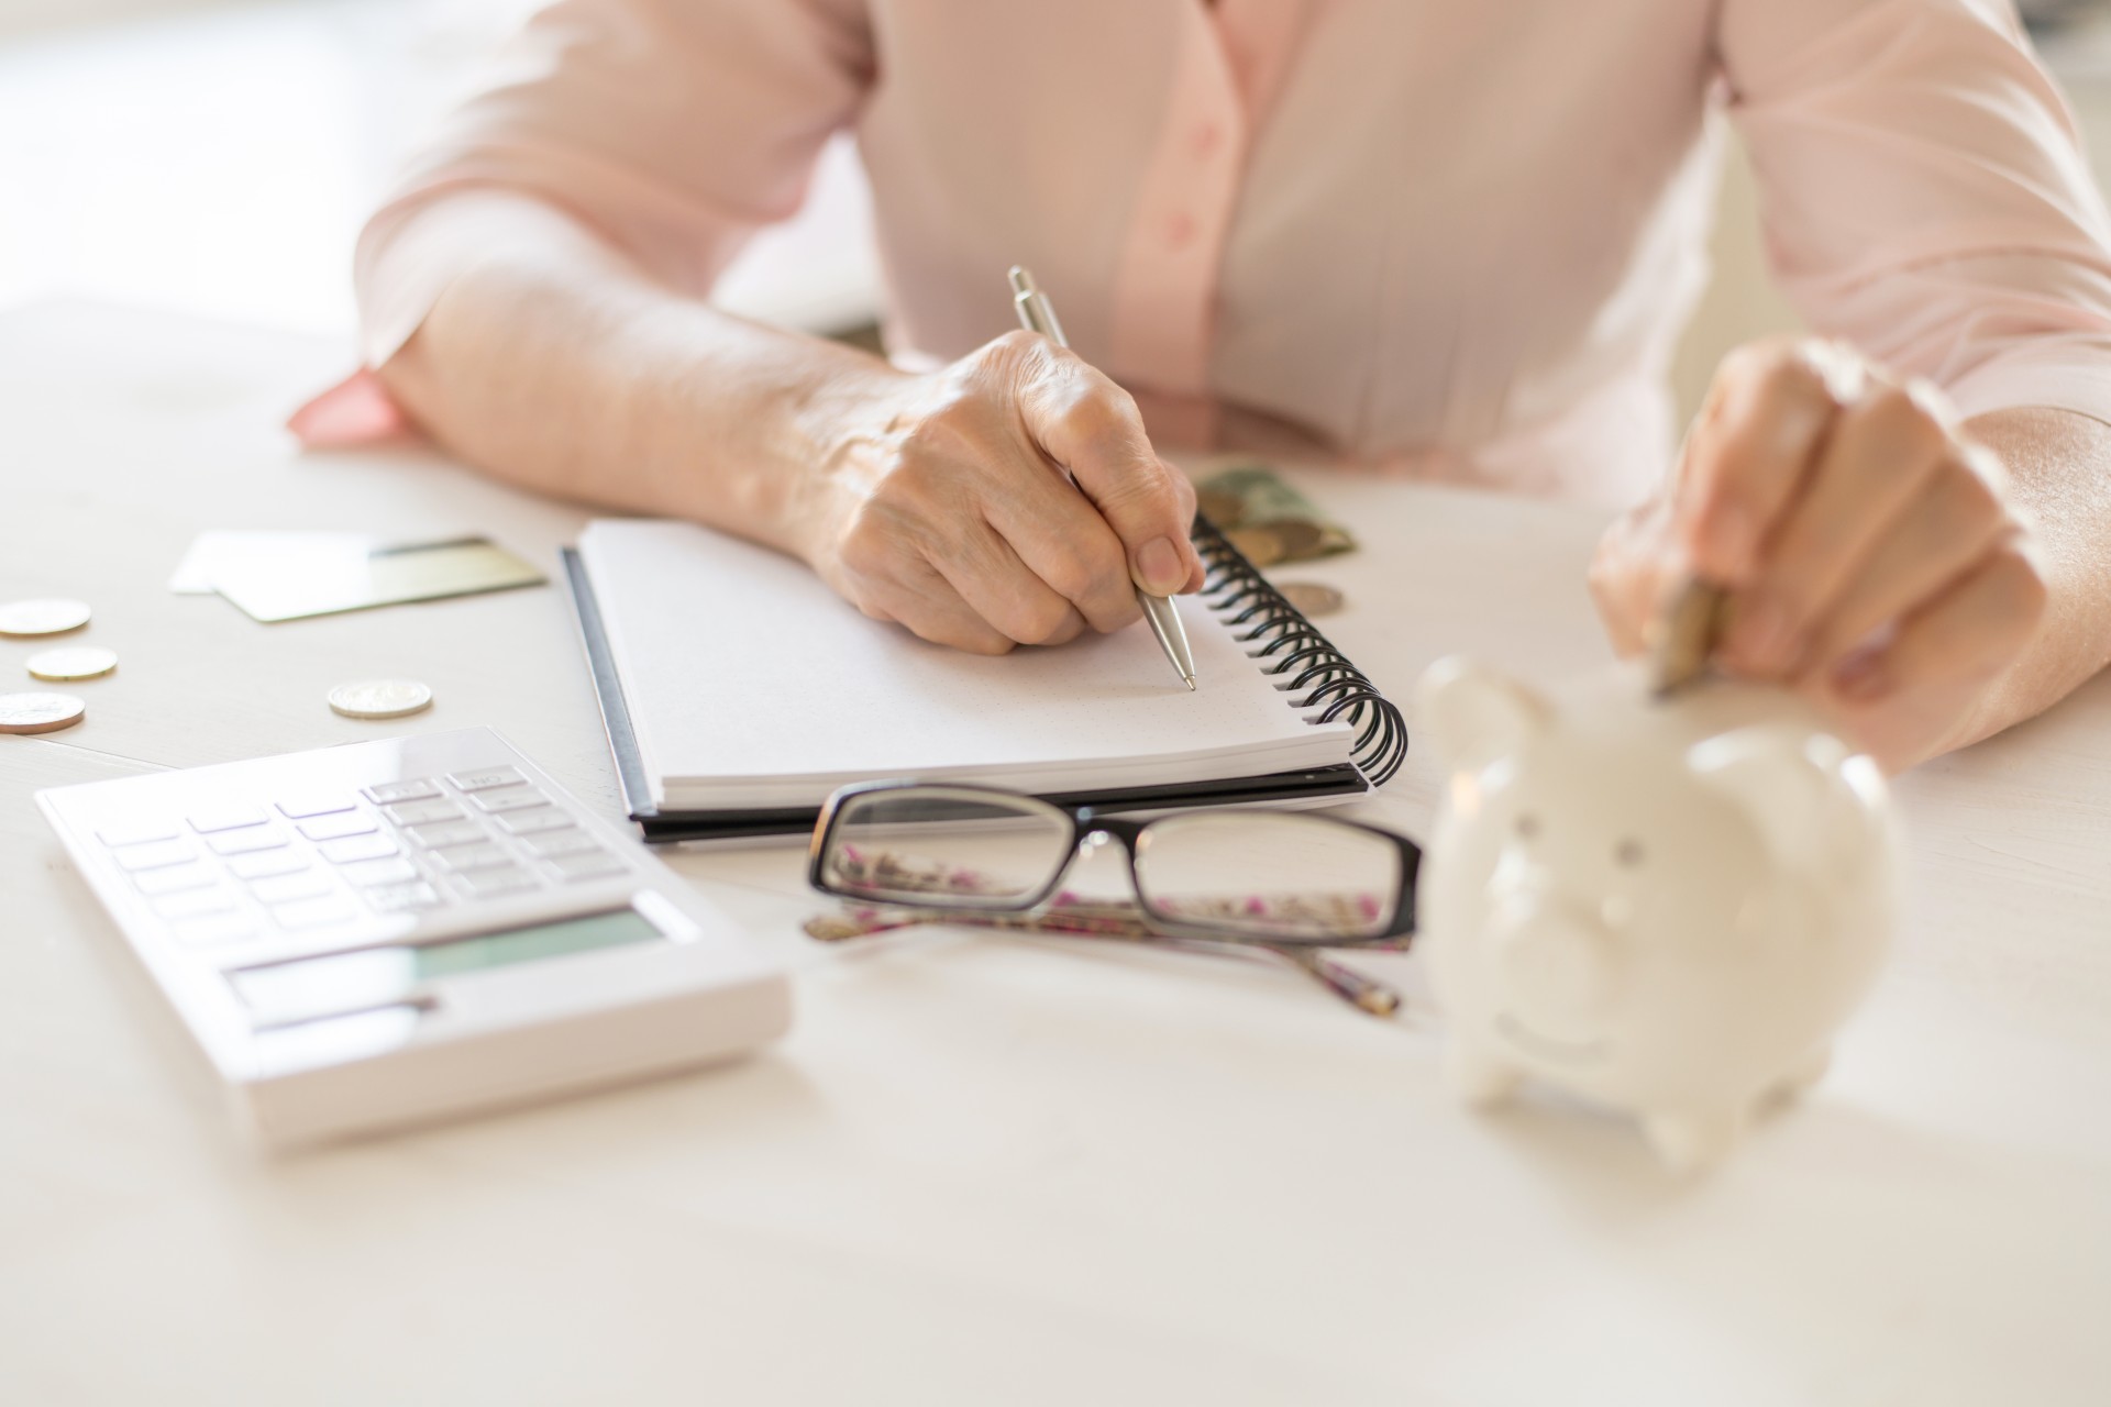
<path fill-rule="evenodd" d="M 680 297 L 530 198 L 464 194 L 418 219 L 445 221 L 420 234 L 448 283 L 380 375 L 450 451 L 521 487 L 800 553 L 815 470 L 906 382 Z"/>

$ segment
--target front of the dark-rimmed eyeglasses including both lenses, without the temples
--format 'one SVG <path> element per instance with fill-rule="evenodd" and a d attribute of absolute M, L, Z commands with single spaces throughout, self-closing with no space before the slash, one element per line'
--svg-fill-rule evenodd
<path fill-rule="evenodd" d="M 1030 913 L 1070 899 L 1064 878 L 1102 844 L 1127 854 L 1136 913 L 1159 937 L 1355 947 L 1414 930 L 1414 842 L 1288 810 L 1119 821 L 994 787 L 866 783 L 821 808 L 806 878 L 863 903 Z"/>

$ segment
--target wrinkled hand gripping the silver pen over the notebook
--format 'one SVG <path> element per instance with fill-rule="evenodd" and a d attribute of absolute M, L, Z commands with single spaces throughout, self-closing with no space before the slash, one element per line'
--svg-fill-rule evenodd
<path fill-rule="evenodd" d="M 1201 589 L 1186 475 L 1125 390 L 1045 338 L 901 378 L 851 422 L 802 553 L 876 620 L 1003 654 L 1119 631 L 1136 586 Z"/>

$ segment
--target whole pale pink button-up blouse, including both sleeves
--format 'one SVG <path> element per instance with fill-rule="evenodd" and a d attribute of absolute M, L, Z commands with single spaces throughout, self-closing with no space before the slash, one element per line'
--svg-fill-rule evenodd
<path fill-rule="evenodd" d="M 2111 221 L 2005 0 L 564 0 L 367 226 L 365 354 L 433 304 L 450 190 L 703 297 L 849 129 L 901 359 L 1007 331 L 1028 264 L 1161 447 L 1628 502 L 1718 103 L 1815 329 L 2111 422 Z"/>

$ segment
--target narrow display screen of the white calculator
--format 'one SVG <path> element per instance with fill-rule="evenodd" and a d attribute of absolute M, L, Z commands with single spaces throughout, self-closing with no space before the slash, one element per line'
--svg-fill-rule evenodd
<path fill-rule="evenodd" d="M 483 972 L 597 947 L 665 941 L 665 937 L 638 909 L 625 907 L 441 943 L 395 943 L 327 958 L 272 962 L 241 968 L 228 979 L 262 1019 L 300 1019 L 395 1002 L 435 977 Z"/>

